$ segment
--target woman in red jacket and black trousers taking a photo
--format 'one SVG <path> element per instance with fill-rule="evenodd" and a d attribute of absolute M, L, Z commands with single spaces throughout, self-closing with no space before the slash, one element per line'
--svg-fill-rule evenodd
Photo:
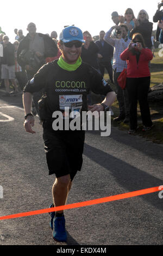
<path fill-rule="evenodd" d="M 120 55 L 122 60 L 127 60 L 127 90 L 130 100 L 130 130 L 129 134 L 137 129 L 137 100 L 139 100 L 143 131 L 152 128 L 153 123 L 148 105 L 148 90 L 151 74 L 148 63 L 153 58 L 152 51 L 146 48 L 141 34 L 133 35 L 126 50 Z"/>

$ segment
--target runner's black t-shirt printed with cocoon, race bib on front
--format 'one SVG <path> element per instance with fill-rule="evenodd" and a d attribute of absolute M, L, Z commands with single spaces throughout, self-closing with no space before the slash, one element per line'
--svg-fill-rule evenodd
<path fill-rule="evenodd" d="M 43 65 L 28 81 L 23 92 L 35 93 L 40 90 L 47 92 L 48 118 L 52 118 L 54 111 L 64 113 L 65 107 L 72 111 L 87 111 L 87 94 L 106 95 L 112 92 L 108 83 L 89 64 L 82 62 L 75 71 L 67 71 L 57 64 L 58 60 Z"/>

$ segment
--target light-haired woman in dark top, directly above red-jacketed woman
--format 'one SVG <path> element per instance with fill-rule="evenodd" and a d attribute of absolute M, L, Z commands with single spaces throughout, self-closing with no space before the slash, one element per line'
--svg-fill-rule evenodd
<path fill-rule="evenodd" d="M 137 19 L 134 19 L 135 27 L 130 32 L 130 37 L 133 38 L 135 33 L 140 33 L 145 40 L 146 47 L 152 49 L 152 29 L 153 23 L 149 22 L 149 16 L 145 10 L 140 10 Z"/>

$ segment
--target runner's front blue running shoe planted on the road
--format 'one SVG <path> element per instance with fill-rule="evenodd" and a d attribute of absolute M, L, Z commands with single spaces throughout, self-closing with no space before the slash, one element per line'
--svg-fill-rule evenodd
<path fill-rule="evenodd" d="M 53 239 L 58 242 L 66 242 L 67 240 L 64 215 L 54 218 Z"/>

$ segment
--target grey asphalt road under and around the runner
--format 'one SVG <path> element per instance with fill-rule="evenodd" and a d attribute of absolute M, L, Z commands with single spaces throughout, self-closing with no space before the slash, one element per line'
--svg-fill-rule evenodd
<path fill-rule="evenodd" d="M 42 127 L 36 118 L 36 134 L 26 133 L 21 96 L 1 95 L 0 216 L 48 208 L 54 176 L 48 175 Z M 162 151 L 116 127 L 109 137 L 86 132 L 83 168 L 67 204 L 163 185 Z M 0 245 L 162 245 L 162 210 L 157 192 L 66 210 L 67 243 L 53 240 L 48 214 L 4 220 Z"/>

